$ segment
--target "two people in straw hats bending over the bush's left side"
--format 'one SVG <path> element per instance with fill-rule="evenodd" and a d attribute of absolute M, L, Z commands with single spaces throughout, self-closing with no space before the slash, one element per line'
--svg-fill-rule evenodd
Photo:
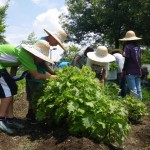
<path fill-rule="evenodd" d="M 65 50 L 63 42 L 67 34 L 63 29 L 56 32 L 44 31 L 47 36 L 37 39 L 34 45 L 21 44 L 13 46 L 10 44 L 0 45 L 0 130 L 7 134 L 14 134 L 15 129 L 22 129 L 24 125 L 14 117 L 13 96 L 17 94 L 15 82 L 18 66 L 27 71 L 26 92 L 29 100 L 27 118 L 33 119 L 32 92 L 36 91 L 42 80 L 57 78 L 54 71 L 47 63 L 54 62 L 48 57 L 50 46 L 59 45 Z M 10 73 L 6 69 L 11 67 Z M 47 72 L 47 73 L 46 73 Z"/>

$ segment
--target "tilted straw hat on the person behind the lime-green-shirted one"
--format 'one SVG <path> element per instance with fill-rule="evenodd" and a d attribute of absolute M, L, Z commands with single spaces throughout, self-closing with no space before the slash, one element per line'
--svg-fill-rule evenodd
<path fill-rule="evenodd" d="M 63 49 L 63 50 L 66 50 L 66 48 L 64 47 L 63 45 L 63 42 L 66 40 L 67 38 L 67 34 L 66 32 L 61 29 L 61 30 L 58 30 L 57 32 L 49 32 L 47 31 L 46 29 L 44 29 L 44 31 L 48 34 L 48 35 L 51 35 L 53 36 L 57 42 L 59 43 L 59 46 Z"/>

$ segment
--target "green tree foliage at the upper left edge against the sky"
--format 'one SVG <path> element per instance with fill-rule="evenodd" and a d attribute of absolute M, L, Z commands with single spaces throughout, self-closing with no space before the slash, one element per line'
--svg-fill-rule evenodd
<path fill-rule="evenodd" d="M 8 8 L 8 4 L 3 7 L 0 7 L 0 44 L 7 43 L 5 40 L 5 36 L 3 35 L 6 29 L 5 18 L 6 18 L 7 8 Z"/>

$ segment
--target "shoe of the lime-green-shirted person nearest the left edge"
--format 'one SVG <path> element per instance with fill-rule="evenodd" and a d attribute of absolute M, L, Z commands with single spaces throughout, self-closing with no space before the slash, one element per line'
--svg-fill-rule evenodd
<path fill-rule="evenodd" d="M 7 124 L 6 119 L 0 120 L 0 130 L 10 135 L 15 133 L 15 131 Z"/>

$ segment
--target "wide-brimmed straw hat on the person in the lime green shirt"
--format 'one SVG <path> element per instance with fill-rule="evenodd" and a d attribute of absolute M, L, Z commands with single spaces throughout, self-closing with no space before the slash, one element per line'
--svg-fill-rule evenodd
<path fill-rule="evenodd" d="M 48 57 L 50 45 L 47 41 L 39 40 L 34 45 L 21 44 L 21 47 L 42 60 L 54 64 L 54 62 Z"/>

